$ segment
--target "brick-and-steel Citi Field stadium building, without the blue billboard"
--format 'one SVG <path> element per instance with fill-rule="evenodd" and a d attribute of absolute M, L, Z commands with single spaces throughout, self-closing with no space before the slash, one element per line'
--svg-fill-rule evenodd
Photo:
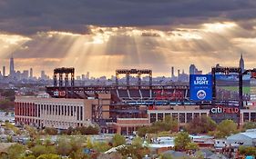
<path fill-rule="evenodd" d="M 210 116 L 216 122 L 232 119 L 238 124 L 256 121 L 256 106 L 241 101 L 191 101 L 189 85 L 141 85 L 140 75 L 150 70 L 118 70 L 117 74 L 138 75 L 138 84 L 75 86 L 74 69 L 55 70 L 49 96 L 16 96 L 16 124 L 67 129 L 98 124 L 104 133 L 132 134 L 143 125 L 171 116 L 182 126 L 193 118 Z M 69 81 L 71 75 L 71 81 Z M 58 76 L 58 78 L 57 78 Z M 63 77 L 65 76 L 65 81 Z M 117 75 L 118 77 L 118 75 Z M 57 80 L 58 79 L 58 80 Z M 216 86 L 216 85 L 215 85 Z M 216 88 L 215 88 L 216 89 Z M 216 94 L 214 94 L 216 95 Z"/>

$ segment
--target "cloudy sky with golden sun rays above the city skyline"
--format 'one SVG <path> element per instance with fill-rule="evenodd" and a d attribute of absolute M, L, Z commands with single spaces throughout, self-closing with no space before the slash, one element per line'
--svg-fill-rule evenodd
<path fill-rule="evenodd" d="M 203 73 L 211 66 L 256 61 L 255 0 L 1 0 L 0 66 L 53 75 L 115 75 L 116 69 L 171 66 Z"/>

